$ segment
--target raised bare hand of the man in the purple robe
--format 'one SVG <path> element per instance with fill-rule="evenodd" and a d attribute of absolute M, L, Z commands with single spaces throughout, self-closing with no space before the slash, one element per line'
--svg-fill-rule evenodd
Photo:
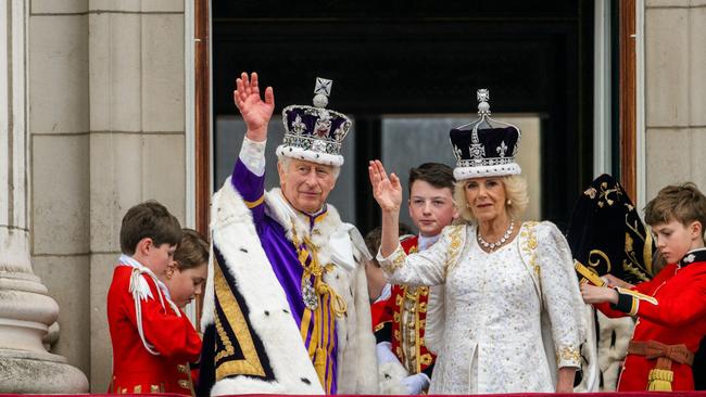
<path fill-rule="evenodd" d="M 260 98 L 257 74 L 243 72 L 236 80 L 236 90 L 232 100 L 248 126 L 247 137 L 253 141 L 262 142 L 267 139 L 267 124 L 275 110 L 275 93 L 272 87 L 265 89 L 265 101 Z"/>

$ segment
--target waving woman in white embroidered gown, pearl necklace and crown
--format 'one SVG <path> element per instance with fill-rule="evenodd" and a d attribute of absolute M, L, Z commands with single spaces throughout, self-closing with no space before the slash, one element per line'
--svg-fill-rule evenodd
<path fill-rule="evenodd" d="M 479 100 L 479 120 L 450 133 L 463 219 L 431 248 L 404 253 L 400 180 L 370 162 L 382 209 L 378 261 L 390 282 L 444 286 L 429 394 L 571 392 L 587 331 L 571 253 L 552 222 L 521 220 L 520 131 L 490 118 L 487 91 Z"/>

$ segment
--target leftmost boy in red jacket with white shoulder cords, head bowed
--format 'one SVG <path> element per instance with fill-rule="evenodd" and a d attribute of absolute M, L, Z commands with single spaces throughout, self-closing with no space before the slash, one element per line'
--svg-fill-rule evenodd
<path fill-rule="evenodd" d="M 123 255 L 108 292 L 112 393 L 192 394 L 186 363 L 199 359 L 201 340 L 162 281 L 180 239 L 177 219 L 154 201 L 123 218 Z"/>

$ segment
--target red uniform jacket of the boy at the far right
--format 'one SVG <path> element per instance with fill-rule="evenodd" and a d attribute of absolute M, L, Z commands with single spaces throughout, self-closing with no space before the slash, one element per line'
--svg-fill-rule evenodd
<path fill-rule="evenodd" d="M 636 315 L 632 341 L 684 344 L 692 353 L 698 349 L 702 337 L 706 335 L 706 248 L 692 251 L 679 264 L 667 265 L 654 279 L 635 285 L 633 291 L 654 299 L 620 294 L 621 300 L 627 300 L 628 305 L 619 302 L 618 305 L 601 304 L 596 307 L 608 317 L 626 316 L 626 311 Z M 618 307 L 627 310 L 621 311 Z M 618 390 L 645 390 L 655 363 L 656 359 L 629 354 Z M 690 366 L 673 361 L 671 370 L 672 390 L 694 389 Z"/>

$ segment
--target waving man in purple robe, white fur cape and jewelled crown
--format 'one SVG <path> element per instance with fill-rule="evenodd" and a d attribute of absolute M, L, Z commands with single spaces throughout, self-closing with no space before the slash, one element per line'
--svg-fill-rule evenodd
<path fill-rule="evenodd" d="M 213 251 L 202 317 L 198 395 L 376 394 L 375 337 L 358 231 L 326 203 L 351 120 L 314 106 L 282 111 L 280 188 L 265 192 L 272 88 L 243 73 L 234 92 L 248 131 L 212 202 Z"/>

